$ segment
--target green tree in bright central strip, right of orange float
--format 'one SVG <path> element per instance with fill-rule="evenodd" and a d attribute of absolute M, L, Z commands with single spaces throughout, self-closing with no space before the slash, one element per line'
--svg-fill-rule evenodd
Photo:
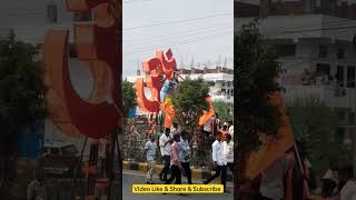
<path fill-rule="evenodd" d="M 198 127 L 199 117 L 209 106 L 206 98 L 209 93 L 209 86 L 201 78 L 186 78 L 179 82 L 178 90 L 172 98 L 176 121 L 191 133 Z"/>

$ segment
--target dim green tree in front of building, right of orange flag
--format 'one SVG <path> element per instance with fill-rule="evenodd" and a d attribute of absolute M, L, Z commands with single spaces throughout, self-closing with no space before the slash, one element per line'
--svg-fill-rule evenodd
<path fill-rule="evenodd" d="M 322 101 L 309 98 L 303 101 L 297 98 L 287 106 L 296 140 L 301 144 L 301 154 L 313 163 L 317 174 L 324 173 L 329 161 L 345 163 L 350 160 L 349 147 L 338 141 L 336 110 L 326 107 Z"/>

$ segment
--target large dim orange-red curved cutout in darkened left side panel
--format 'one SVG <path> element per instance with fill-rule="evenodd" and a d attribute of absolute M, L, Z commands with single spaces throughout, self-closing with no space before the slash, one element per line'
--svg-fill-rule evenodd
<path fill-rule="evenodd" d="M 67 0 L 70 11 L 90 11 L 93 21 L 75 23 L 78 59 L 93 77 L 89 100 L 82 100 L 70 80 L 68 30 L 50 30 L 44 37 L 47 102 L 56 126 L 68 136 L 102 138 L 115 131 L 122 117 L 118 20 L 109 0 Z"/>

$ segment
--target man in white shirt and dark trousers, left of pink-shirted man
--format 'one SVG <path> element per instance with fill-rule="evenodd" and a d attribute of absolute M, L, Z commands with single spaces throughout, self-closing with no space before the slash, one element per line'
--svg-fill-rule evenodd
<path fill-rule="evenodd" d="M 164 169 L 159 173 L 159 179 L 161 181 L 167 181 L 167 174 L 169 172 L 169 164 L 170 164 L 170 143 L 172 142 L 172 138 L 170 137 L 170 129 L 166 128 L 165 134 L 159 138 L 159 148 L 160 153 L 164 159 Z"/>

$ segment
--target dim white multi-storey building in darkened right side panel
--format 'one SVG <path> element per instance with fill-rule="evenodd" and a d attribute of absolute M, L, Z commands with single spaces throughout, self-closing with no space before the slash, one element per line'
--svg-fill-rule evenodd
<path fill-rule="evenodd" d="M 236 18 L 235 29 L 251 21 Z M 276 48 L 285 72 L 281 83 L 287 103 L 317 98 L 339 112 L 338 134 L 346 142 L 355 132 L 356 21 L 324 14 L 268 17 L 259 30 Z M 312 81 L 303 81 L 308 70 Z"/>

